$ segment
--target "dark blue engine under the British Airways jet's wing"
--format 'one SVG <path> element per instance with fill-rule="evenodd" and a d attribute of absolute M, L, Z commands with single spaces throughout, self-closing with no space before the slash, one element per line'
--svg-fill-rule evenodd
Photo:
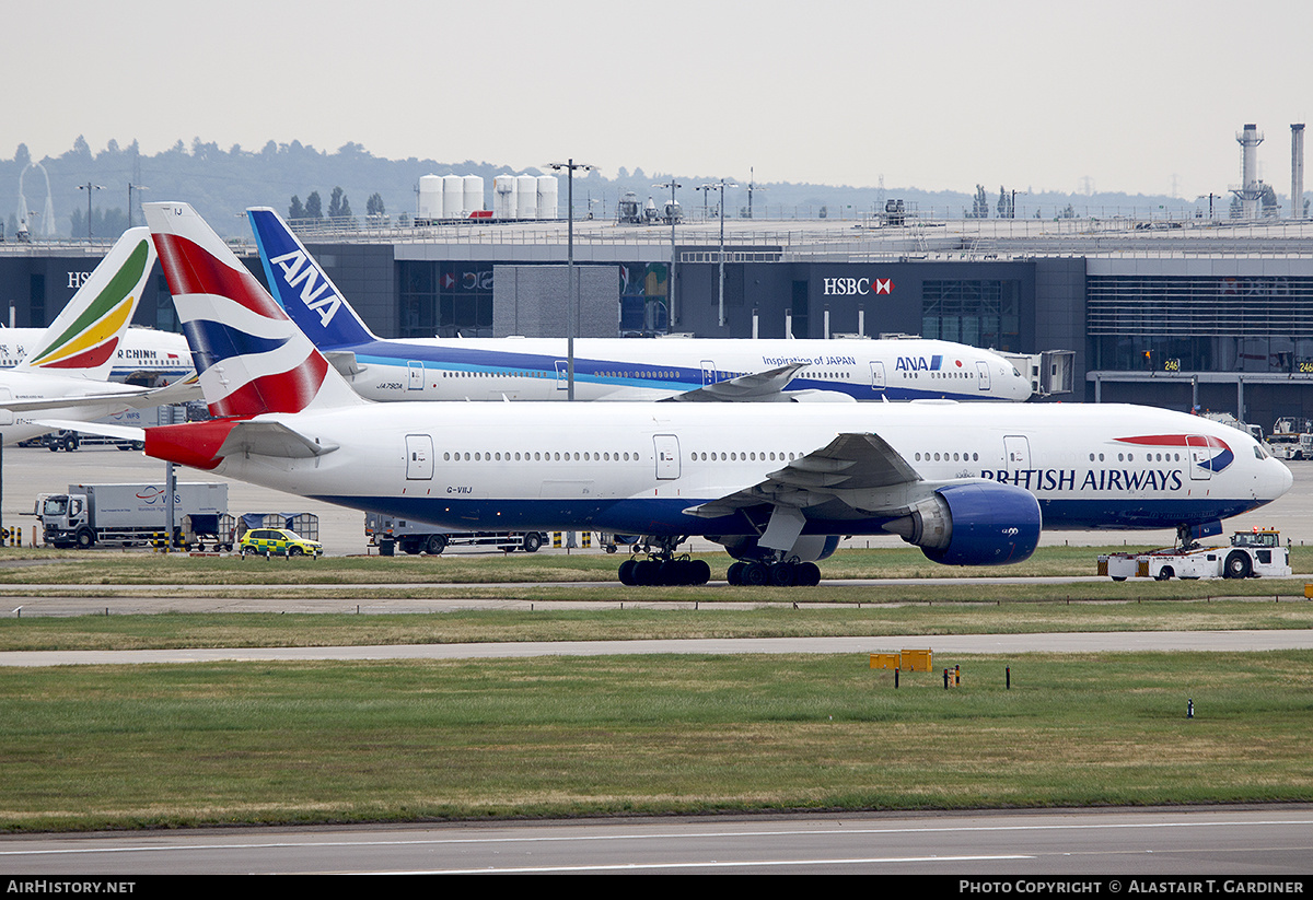
<path fill-rule="evenodd" d="M 1040 504 L 1015 484 L 951 484 L 888 527 L 944 565 L 1004 565 L 1039 546 Z"/>

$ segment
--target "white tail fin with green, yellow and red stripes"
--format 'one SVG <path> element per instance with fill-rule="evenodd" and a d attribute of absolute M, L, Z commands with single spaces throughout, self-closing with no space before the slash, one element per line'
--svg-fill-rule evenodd
<path fill-rule="evenodd" d="M 109 378 L 154 265 L 150 228 L 125 231 L 17 369 L 98 382 Z"/>

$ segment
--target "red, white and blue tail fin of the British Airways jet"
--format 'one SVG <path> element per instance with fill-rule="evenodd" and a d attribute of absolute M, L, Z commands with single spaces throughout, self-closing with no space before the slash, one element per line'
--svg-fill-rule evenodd
<path fill-rule="evenodd" d="M 196 210 L 142 209 L 213 415 L 365 403 Z"/>

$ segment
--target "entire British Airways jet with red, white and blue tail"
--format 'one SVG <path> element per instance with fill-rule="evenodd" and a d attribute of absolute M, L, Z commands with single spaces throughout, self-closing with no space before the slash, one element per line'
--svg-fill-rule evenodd
<path fill-rule="evenodd" d="M 1041 525 L 1217 534 L 1293 481 L 1242 432 L 1120 404 L 370 403 L 194 210 L 144 209 L 215 419 L 117 436 L 298 496 L 458 531 L 642 535 L 663 562 L 701 535 L 744 584 L 784 585 L 843 535 L 1002 565 Z"/>

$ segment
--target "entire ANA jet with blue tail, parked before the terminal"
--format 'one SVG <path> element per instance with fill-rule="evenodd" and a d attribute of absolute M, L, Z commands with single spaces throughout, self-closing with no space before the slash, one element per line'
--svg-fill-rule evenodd
<path fill-rule="evenodd" d="M 376 336 L 270 209 L 247 210 L 273 297 L 370 400 L 1025 400 L 1001 354 L 951 341 Z"/>

